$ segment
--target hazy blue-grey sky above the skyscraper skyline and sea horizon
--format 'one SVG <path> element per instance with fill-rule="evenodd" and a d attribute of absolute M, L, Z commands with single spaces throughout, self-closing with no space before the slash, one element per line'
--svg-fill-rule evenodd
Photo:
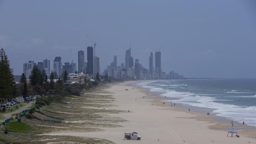
<path fill-rule="evenodd" d="M 15 75 L 29 60 L 77 63 L 78 50 L 95 41 L 101 72 L 113 55 L 124 63 L 131 42 L 145 68 L 160 50 L 164 72 L 256 78 L 256 1 L 0 0 L 0 47 Z"/>

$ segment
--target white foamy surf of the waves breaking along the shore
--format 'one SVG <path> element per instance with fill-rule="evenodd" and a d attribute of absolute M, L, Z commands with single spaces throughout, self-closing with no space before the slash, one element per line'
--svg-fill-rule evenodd
<path fill-rule="evenodd" d="M 167 90 L 161 87 L 156 87 L 159 85 L 148 85 L 148 83 L 143 83 L 141 86 L 147 87 L 152 92 L 164 92 L 160 96 L 167 96 L 170 98 L 178 98 L 178 100 L 172 100 L 175 103 L 184 103 L 194 107 L 210 108 L 215 109 L 213 113 L 217 113 L 217 116 L 223 116 L 232 120 L 235 120 L 239 123 L 245 121 L 249 126 L 256 127 L 256 106 L 242 107 L 232 104 L 224 104 L 216 101 L 231 101 L 231 100 L 219 100 L 215 97 L 210 97 L 210 95 L 219 95 L 219 94 L 195 94 L 192 92 L 177 92 L 175 90 Z M 169 85 L 173 87 L 173 85 Z M 168 87 L 168 86 L 166 86 Z M 184 85 L 180 85 L 184 87 Z M 252 96 L 226 96 L 226 97 L 241 97 L 241 98 L 255 98 L 256 93 L 254 92 L 237 92 L 232 90 L 226 93 L 234 94 L 255 94 Z M 171 100 L 165 100 L 166 102 Z"/>

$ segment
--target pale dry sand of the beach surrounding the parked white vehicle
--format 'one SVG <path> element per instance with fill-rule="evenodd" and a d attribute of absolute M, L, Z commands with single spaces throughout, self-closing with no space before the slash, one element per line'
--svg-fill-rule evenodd
<path fill-rule="evenodd" d="M 104 131 L 97 132 L 48 133 L 47 135 L 104 138 L 116 144 L 256 143 L 256 137 L 253 135 L 249 137 L 238 133 L 240 138 L 226 137 L 227 132 L 217 130 L 218 124 L 207 121 L 207 118 L 204 118 L 206 115 L 188 113 L 179 108 L 171 107 L 169 103 L 162 105 L 160 98 L 146 95 L 145 89 L 129 86 L 131 83 L 134 82 L 116 83 L 106 89 L 113 92 L 112 95 L 115 98 L 113 104 L 117 105 L 109 109 L 127 111 L 127 113 L 109 114 L 127 120 L 128 122 L 118 123 L 122 127 L 104 127 L 102 128 Z M 200 120 L 200 117 L 204 120 Z M 141 140 L 124 139 L 125 132 L 134 131 L 142 136 Z"/>

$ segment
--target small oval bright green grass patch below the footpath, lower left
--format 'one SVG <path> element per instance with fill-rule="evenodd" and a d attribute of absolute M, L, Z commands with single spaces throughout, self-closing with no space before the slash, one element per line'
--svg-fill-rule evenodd
<path fill-rule="evenodd" d="M 5 126 L 9 131 L 18 133 L 29 133 L 32 127 L 24 122 L 10 122 Z"/>

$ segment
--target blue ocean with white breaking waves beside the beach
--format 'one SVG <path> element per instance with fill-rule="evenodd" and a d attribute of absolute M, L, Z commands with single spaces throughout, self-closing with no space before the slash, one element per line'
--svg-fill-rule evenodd
<path fill-rule="evenodd" d="M 165 102 L 200 107 L 205 113 L 223 116 L 256 127 L 256 79 L 152 80 L 138 86 L 172 98 Z"/>

